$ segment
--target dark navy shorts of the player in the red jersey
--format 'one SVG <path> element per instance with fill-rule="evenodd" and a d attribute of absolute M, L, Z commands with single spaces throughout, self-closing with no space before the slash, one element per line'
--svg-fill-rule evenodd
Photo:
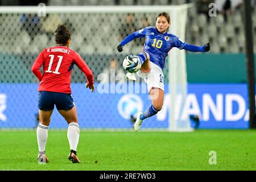
<path fill-rule="evenodd" d="M 74 106 L 73 98 L 70 93 L 60 92 L 38 92 L 38 109 L 52 110 L 56 105 L 57 110 L 69 110 Z"/>

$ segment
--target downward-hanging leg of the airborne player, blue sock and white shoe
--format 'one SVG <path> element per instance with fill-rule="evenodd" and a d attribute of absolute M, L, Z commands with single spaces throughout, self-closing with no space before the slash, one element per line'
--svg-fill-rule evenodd
<path fill-rule="evenodd" d="M 147 108 L 147 110 L 145 110 L 143 113 L 142 112 L 137 113 L 137 119 L 136 119 L 136 122 L 134 123 L 134 131 L 139 130 L 144 119 L 152 117 L 162 109 L 163 100 L 164 100 L 164 91 L 159 88 L 152 88 L 150 90 L 150 97 L 151 97 L 152 105 L 150 105 Z"/>

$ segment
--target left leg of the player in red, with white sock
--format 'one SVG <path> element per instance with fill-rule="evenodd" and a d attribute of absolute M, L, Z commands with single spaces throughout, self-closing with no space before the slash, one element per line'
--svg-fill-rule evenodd
<path fill-rule="evenodd" d="M 38 163 L 45 164 L 49 162 L 46 156 L 46 142 L 48 137 L 48 127 L 50 123 L 50 118 L 53 110 L 40 110 L 39 109 L 39 125 L 36 129 L 36 137 L 38 139 Z"/>

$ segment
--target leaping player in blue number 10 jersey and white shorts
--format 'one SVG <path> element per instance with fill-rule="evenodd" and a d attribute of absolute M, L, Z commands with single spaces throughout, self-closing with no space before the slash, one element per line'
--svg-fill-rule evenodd
<path fill-rule="evenodd" d="M 168 52 L 173 48 L 185 49 L 191 52 L 208 52 L 210 44 L 205 46 L 192 46 L 183 42 L 174 34 L 167 31 L 171 25 L 170 16 L 167 13 L 160 13 L 156 17 L 155 27 L 146 27 L 128 35 L 117 47 L 119 52 L 123 51 L 125 44 L 136 38 L 146 38 L 143 52 L 138 57 L 142 67 L 137 75 L 144 78 L 148 92 L 151 97 L 152 105 L 143 113 L 137 113 L 134 123 L 134 130 L 138 131 L 144 119 L 151 117 L 162 109 L 164 99 L 163 68 Z"/>

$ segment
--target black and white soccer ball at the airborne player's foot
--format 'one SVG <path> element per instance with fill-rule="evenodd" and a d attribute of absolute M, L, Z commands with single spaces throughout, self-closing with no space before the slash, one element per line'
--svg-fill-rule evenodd
<path fill-rule="evenodd" d="M 123 60 L 123 69 L 125 69 L 126 72 L 136 73 L 141 69 L 141 60 L 135 55 L 126 56 Z"/>

